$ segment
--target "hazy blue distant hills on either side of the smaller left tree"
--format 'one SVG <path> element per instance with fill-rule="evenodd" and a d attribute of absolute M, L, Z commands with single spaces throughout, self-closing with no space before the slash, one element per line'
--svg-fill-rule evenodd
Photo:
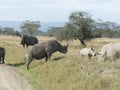
<path fill-rule="evenodd" d="M 20 26 L 22 22 L 20 21 L 0 21 L 1 27 L 12 27 L 16 31 L 20 31 Z M 63 27 L 65 22 L 41 22 L 40 30 L 45 32 L 49 27 Z"/>

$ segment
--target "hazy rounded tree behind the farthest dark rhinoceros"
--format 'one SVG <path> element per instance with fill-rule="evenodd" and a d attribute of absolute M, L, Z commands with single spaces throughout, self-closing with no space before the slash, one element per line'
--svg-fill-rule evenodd
<path fill-rule="evenodd" d="M 22 29 L 22 32 L 26 32 L 32 36 L 40 28 L 40 22 L 26 20 L 23 21 L 20 28 Z"/>

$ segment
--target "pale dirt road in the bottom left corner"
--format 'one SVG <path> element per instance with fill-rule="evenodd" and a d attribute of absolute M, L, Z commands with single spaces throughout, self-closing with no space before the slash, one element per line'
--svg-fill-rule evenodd
<path fill-rule="evenodd" d="M 0 64 L 0 90 L 32 90 L 15 68 Z"/>

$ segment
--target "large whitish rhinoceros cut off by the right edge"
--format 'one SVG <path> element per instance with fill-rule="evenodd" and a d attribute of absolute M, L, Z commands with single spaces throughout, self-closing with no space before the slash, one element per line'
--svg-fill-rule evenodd
<path fill-rule="evenodd" d="M 120 43 L 109 43 L 103 46 L 100 51 L 99 60 L 115 60 L 120 58 Z"/>

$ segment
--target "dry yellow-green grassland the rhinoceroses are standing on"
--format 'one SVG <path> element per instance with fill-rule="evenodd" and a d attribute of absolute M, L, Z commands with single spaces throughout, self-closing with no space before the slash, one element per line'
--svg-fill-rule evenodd
<path fill-rule="evenodd" d="M 38 39 L 42 42 L 55 38 Z M 120 42 L 120 39 L 98 38 L 86 43 L 87 47 L 100 50 L 110 42 Z M 27 49 L 20 45 L 20 37 L 0 36 L 0 46 L 6 49 L 5 62 L 16 68 L 34 90 L 120 90 L 120 60 L 100 62 L 97 56 L 80 57 L 82 47 L 78 40 L 69 41 L 67 54 L 54 53 L 48 62 L 34 60 L 29 70 L 24 66 Z"/>

